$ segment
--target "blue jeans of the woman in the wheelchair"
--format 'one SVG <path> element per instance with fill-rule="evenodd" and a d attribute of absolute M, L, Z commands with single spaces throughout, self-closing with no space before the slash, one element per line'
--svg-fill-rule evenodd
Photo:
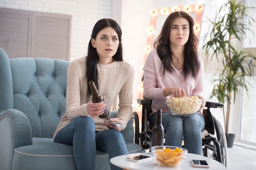
<path fill-rule="evenodd" d="M 156 114 L 153 114 L 150 119 L 150 127 L 155 125 Z M 184 133 L 184 148 L 189 153 L 201 154 L 202 137 L 201 131 L 204 130 L 204 117 L 195 113 L 193 116 L 173 116 L 171 113 L 162 113 L 162 124 L 164 126 L 165 145 L 178 146 L 182 145 L 182 136 Z"/>

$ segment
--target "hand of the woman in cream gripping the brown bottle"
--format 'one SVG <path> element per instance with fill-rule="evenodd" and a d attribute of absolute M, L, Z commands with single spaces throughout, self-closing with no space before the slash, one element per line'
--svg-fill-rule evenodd
<path fill-rule="evenodd" d="M 104 102 L 88 102 L 87 104 L 87 111 L 90 115 L 90 117 L 96 117 L 100 116 L 104 113 L 104 110 L 106 109 L 107 104 Z"/>

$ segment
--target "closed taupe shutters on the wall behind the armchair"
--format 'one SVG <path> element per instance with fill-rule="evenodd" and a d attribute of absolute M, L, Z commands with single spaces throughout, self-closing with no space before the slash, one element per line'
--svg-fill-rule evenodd
<path fill-rule="evenodd" d="M 71 16 L 0 8 L 0 47 L 9 58 L 69 60 Z"/>

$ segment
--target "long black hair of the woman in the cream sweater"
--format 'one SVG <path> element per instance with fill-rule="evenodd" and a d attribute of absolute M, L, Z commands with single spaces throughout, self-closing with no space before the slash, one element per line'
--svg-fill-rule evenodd
<path fill-rule="evenodd" d="M 122 31 L 120 26 L 117 24 L 115 20 L 112 19 L 101 19 L 99 20 L 93 27 L 92 29 L 92 35 L 91 39 L 96 39 L 97 34 L 99 31 L 103 30 L 104 28 L 107 27 L 112 27 L 114 30 L 117 32 L 118 39 L 119 39 L 119 46 L 117 49 L 117 53 L 113 56 L 113 58 L 116 61 L 123 61 L 123 48 L 122 48 L 122 43 L 121 43 L 121 36 L 122 36 Z M 98 83 L 98 70 L 97 70 L 97 63 L 99 63 L 99 55 L 97 53 L 96 48 L 92 46 L 91 39 L 88 44 L 88 53 L 86 57 L 86 76 L 87 76 L 87 99 L 90 98 L 91 96 L 91 90 L 89 87 L 89 81 L 94 81 L 94 84 L 97 88 L 99 88 L 99 83 Z"/>

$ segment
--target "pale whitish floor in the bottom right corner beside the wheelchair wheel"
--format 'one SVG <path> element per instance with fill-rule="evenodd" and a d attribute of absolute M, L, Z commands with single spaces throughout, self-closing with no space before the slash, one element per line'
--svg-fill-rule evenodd
<path fill-rule="evenodd" d="M 228 170 L 256 170 L 256 149 L 233 145 L 228 148 Z"/>

